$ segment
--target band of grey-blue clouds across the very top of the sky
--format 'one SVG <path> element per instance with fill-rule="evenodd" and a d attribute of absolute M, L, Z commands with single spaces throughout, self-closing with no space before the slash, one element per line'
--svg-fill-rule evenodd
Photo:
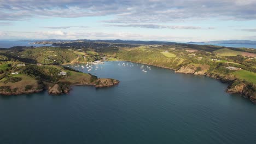
<path fill-rule="evenodd" d="M 256 0 L 1 0 L 0 20 L 31 17 L 114 16 L 105 22 L 144 23 L 201 20 L 256 20 Z"/>

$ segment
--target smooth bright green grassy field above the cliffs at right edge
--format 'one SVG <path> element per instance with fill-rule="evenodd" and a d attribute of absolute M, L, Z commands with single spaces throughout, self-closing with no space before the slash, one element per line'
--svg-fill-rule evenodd
<path fill-rule="evenodd" d="M 246 80 L 256 84 L 256 73 L 247 70 L 238 70 L 235 71 L 234 74 L 238 79 Z"/>

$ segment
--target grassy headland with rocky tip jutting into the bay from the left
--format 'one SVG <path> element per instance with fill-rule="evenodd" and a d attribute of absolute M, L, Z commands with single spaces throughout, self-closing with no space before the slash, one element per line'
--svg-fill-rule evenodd
<path fill-rule="evenodd" d="M 49 70 L 50 69 L 50 70 Z M 64 75 L 60 75 L 59 71 Z M 112 87 L 115 79 L 100 79 L 97 76 L 57 65 L 28 65 L 19 74 L 6 76 L 0 81 L 0 94 L 18 95 L 36 93 L 48 89 L 49 94 L 68 93 L 72 86 L 90 85 L 96 88 Z"/>

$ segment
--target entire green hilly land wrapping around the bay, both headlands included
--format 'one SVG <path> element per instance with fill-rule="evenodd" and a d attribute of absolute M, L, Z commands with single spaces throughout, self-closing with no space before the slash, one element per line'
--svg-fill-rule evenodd
<path fill-rule="evenodd" d="M 36 43 L 45 43 L 37 41 Z M 256 49 L 161 41 L 72 40 L 48 41 L 55 47 L 15 46 L 0 49 L 0 94 L 67 93 L 75 85 L 109 87 L 114 79 L 98 79 L 66 64 L 130 61 L 205 75 L 229 83 L 226 92 L 256 102 Z M 15 74 L 16 73 L 16 74 Z"/>

